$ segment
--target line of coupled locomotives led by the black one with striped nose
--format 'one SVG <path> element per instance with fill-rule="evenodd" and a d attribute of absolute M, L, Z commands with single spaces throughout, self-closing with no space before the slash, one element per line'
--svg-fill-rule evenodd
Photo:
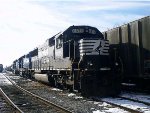
<path fill-rule="evenodd" d="M 113 53 L 110 57 L 109 42 L 97 28 L 70 26 L 18 62 L 23 76 L 84 96 L 108 96 L 120 92 L 120 66 Z"/>

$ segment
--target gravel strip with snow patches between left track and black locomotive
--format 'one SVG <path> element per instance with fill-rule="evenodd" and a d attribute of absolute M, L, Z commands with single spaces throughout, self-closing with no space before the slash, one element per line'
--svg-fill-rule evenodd
<path fill-rule="evenodd" d="M 52 88 L 48 85 L 41 84 L 36 81 L 31 81 L 19 76 L 9 76 L 18 85 L 27 89 L 28 91 L 39 95 L 51 102 L 56 103 L 62 107 L 68 108 L 75 113 L 111 113 L 109 110 L 114 109 L 113 106 L 105 104 L 104 102 L 96 102 L 92 99 L 84 98 L 80 94 L 70 93 L 68 91 L 62 91 L 60 89 Z M 115 108 L 120 113 L 127 113 L 119 108 Z"/>

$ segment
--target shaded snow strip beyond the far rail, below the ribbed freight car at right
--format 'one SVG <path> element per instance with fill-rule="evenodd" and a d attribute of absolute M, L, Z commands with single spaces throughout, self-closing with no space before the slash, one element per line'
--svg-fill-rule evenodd
<path fill-rule="evenodd" d="M 140 93 L 122 93 L 121 96 L 150 103 L 150 95 Z"/>

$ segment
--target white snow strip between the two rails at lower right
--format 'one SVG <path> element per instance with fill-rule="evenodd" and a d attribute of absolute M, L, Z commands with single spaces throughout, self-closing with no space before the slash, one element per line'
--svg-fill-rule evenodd
<path fill-rule="evenodd" d="M 128 107 L 134 110 L 138 110 L 144 113 L 150 113 L 150 106 L 141 104 L 141 103 L 137 103 L 137 102 L 133 102 L 133 101 L 129 101 L 129 100 L 124 100 L 121 98 L 103 98 L 102 100 L 104 101 L 108 101 L 111 103 L 115 103 L 124 107 Z"/>

